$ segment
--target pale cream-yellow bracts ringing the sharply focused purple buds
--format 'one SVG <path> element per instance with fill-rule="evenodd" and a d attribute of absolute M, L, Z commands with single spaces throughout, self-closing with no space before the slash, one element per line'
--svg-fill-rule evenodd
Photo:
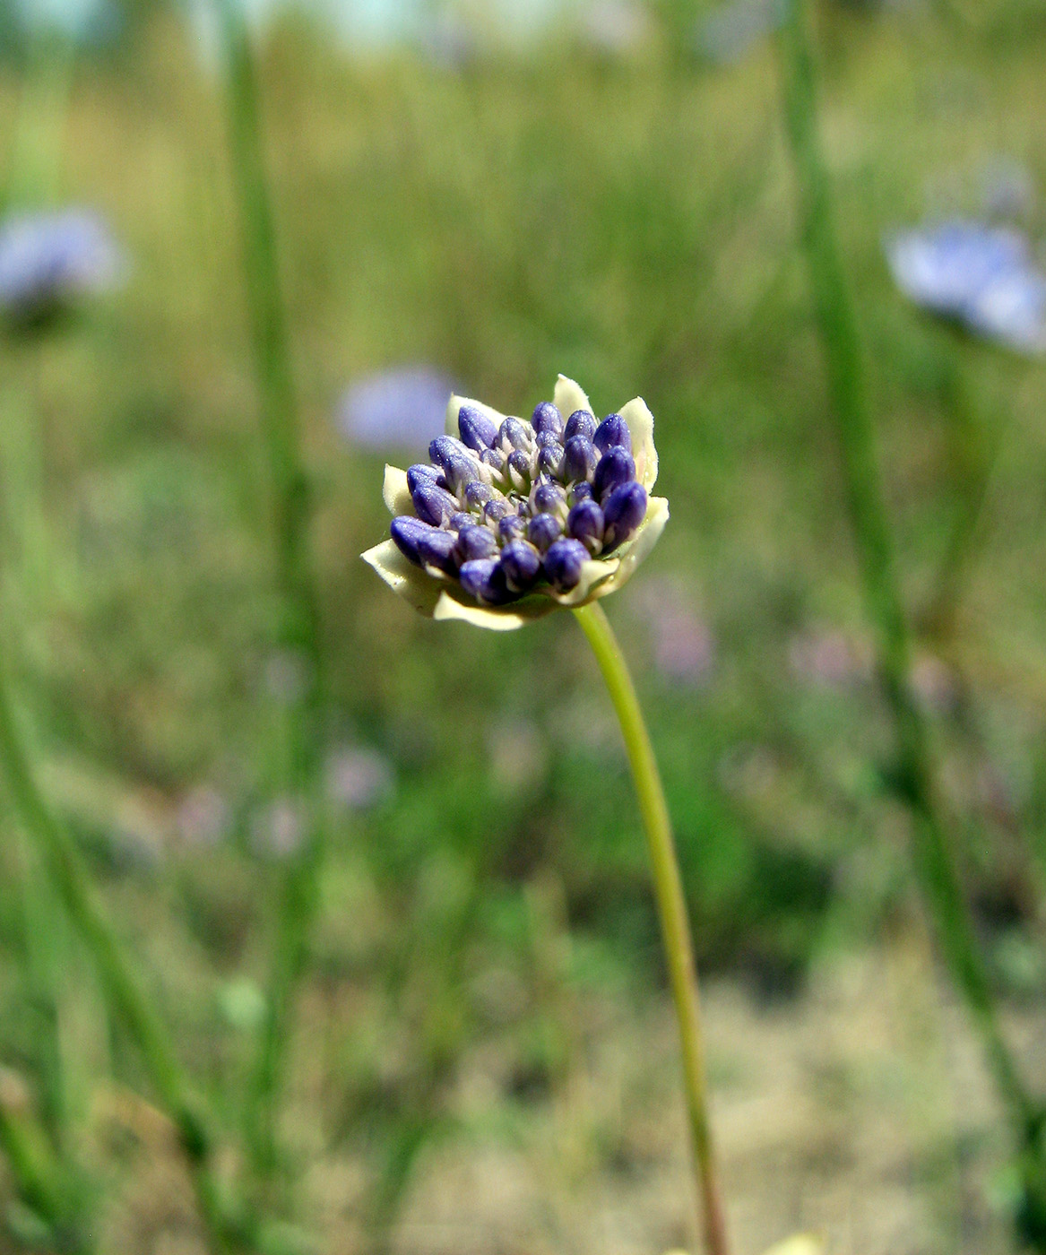
<path fill-rule="evenodd" d="M 559 375 L 557 379 L 553 400 L 564 419 L 576 409 L 592 409 L 581 388 L 566 375 Z M 499 414 L 482 402 L 465 397 L 452 397 L 446 405 L 446 433 L 449 435 L 460 435 L 458 414 L 463 405 L 482 410 L 498 427 L 504 422 L 504 414 Z M 559 594 L 546 587 L 507 606 L 483 606 L 470 597 L 457 580 L 443 571 L 431 566 L 424 569 L 415 566 L 400 553 L 391 540 L 383 541 L 367 550 L 366 553 L 361 555 L 362 560 L 374 567 L 393 592 L 399 594 L 404 601 L 409 601 L 415 610 L 429 619 L 460 619 L 477 628 L 489 628 L 494 631 L 510 631 L 513 628 L 522 628 L 532 619 L 539 619 L 553 610 L 583 606 L 615 592 L 632 577 L 636 567 L 657 543 L 657 538 L 668 521 L 668 502 L 663 497 L 652 496 L 657 479 L 653 415 L 641 397 L 622 405 L 618 413 L 628 424 L 628 430 L 632 434 L 636 478 L 647 491 L 646 517 L 631 540 L 622 545 L 613 557 L 596 557 L 586 562 L 582 567 L 579 584 L 569 592 Z M 414 513 L 414 503 L 406 487 L 406 472 L 400 471 L 399 467 L 385 467 L 383 496 L 393 516 Z"/>

